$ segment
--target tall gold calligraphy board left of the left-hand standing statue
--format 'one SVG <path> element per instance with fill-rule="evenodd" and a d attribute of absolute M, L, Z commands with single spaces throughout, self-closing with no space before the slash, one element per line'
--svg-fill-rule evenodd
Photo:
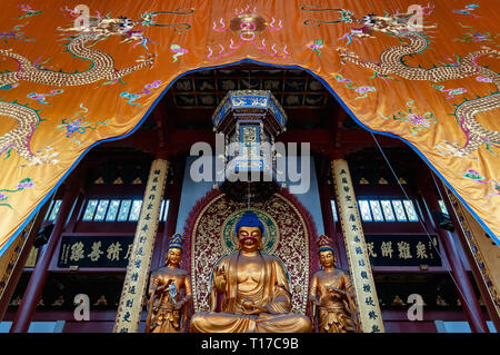
<path fill-rule="evenodd" d="M 169 162 L 163 159 L 156 159 L 151 164 L 141 214 L 133 238 L 132 253 L 121 290 L 114 333 L 139 332 L 168 168 Z"/>

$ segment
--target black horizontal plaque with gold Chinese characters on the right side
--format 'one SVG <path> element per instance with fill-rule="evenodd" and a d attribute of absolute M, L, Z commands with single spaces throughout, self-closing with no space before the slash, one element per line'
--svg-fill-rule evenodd
<path fill-rule="evenodd" d="M 436 236 L 366 235 L 371 266 L 441 266 Z"/>

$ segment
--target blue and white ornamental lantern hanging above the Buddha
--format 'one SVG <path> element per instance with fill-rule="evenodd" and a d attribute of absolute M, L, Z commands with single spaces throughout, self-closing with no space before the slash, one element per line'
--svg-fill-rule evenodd
<path fill-rule="evenodd" d="M 274 137 L 286 131 L 287 115 L 269 90 L 234 90 L 217 107 L 212 124 L 224 135 L 224 169 L 219 186 L 234 200 L 263 200 L 274 194 L 284 171 L 277 170 Z"/>

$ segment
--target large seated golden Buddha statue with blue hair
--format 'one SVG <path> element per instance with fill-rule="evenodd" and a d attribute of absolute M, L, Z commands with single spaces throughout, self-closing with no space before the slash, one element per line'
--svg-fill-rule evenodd
<path fill-rule="evenodd" d="M 210 312 L 191 318 L 191 332 L 301 333 L 311 331 L 308 317 L 291 313 L 283 266 L 262 249 L 264 227 L 247 211 L 236 225 L 237 248 L 214 267 Z M 218 299 L 221 297 L 220 312 Z"/>

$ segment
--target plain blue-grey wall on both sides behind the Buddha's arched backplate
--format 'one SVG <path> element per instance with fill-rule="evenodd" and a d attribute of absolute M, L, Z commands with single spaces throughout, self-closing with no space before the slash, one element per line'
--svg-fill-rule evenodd
<path fill-rule="evenodd" d="M 200 181 L 194 183 L 190 177 L 191 164 L 198 157 L 188 157 L 186 161 L 184 177 L 182 181 L 182 194 L 179 206 L 179 215 L 177 218 L 177 231 L 182 233 L 184 229 L 186 219 L 189 216 L 192 207 L 196 203 L 202 198 L 213 186 L 213 181 Z M 299 158 L 300 159 L 300 158 Z M 214 165 L 213 165 L 214 166 Z M 298 162 L 300 167 L 300 162 Z M 290 183 L 287 176 L 287 186 L 290 186 L 297 183 Z M 310 186 L 309 190 L 306 194 L 297 194 L 294 195 L 297 199 L 309 210 L 311 214 L 318 235 L 324 233 L 323 228 L 323 217 L 321 215 L 321 205 L 320 205 L 320 196 L 318 190 L 318 180 L 316 176 L 316 166 L 314 161 L 310 159 Z"/>

